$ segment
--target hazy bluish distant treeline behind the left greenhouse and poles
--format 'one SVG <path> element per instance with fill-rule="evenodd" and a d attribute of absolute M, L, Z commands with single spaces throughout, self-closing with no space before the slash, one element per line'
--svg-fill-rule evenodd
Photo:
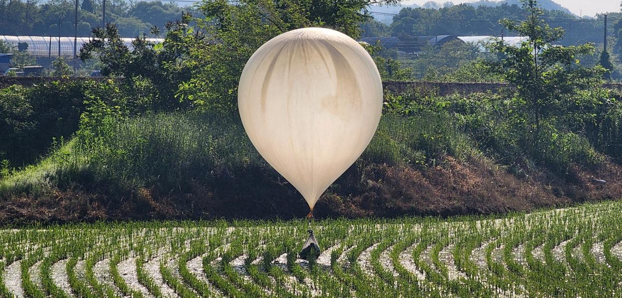
<path fill-rule="evenodd" d="M 100 0 L 78 0 L 78 36 L 89 36 L 91 29 L 102 22 Z M 60 35 L 74 34 L 75 2 L 53 0 L 0 0 L 0 35 Z M 106 1 L 106 22 L 118 25 L 123 37 L 150 34 L 151 27 L 163 27 L 168 21 L 179 19 L 182 11 L 192 7 L 179 7 L 174 3 L 160 1 L 125 0 Z"/>

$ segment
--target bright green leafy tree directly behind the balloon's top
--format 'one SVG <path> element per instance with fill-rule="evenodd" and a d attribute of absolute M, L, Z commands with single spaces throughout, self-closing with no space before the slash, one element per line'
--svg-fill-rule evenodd
<path fill-rule="evenodd" d="M 207 19 L 197 19 L 198 30 L 210 42 L 191 45 L 186 65 L 190 81 L 180 85 L 180 99 L 233 111 L 238 79 L 244 64 L 264 42 L 301 27 L 329 27 L 351 37 L 360 36 L 370 4 L 397 0 L 206 0 L 198 7 Z M 188 29 L 193 30 L 193 29 Z"/>

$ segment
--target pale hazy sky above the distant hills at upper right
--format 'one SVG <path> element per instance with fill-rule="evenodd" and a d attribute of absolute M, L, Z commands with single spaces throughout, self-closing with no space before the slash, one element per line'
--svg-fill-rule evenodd
<path fill-rule="evenodd" d="M 417 3 L 419 5 L 424 4 L 429 0 L 405 0 L 402 3 L 411 4 Z M 435 2 L 446 2 L 452 0 L 436 0 Z M 454 4 L 463 2 L 475 2 L 476 0 L 453 0 Z M 583 16 L 594 16 L 600 12 L 620 12 L 621 0 L 553 0 L 561 4 L 562 6 L 570 9 L 577 16 L 582 14 Z"/>

